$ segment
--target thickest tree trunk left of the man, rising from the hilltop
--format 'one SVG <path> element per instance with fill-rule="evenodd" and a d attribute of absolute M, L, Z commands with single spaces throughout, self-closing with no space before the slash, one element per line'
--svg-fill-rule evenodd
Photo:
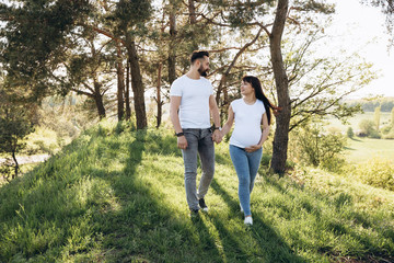
<path fill-rule="evenodd" d="M 143 129 L 147 124 L 147 112 L 144 104 L 144 88 L 142 83 L 141 70 L 137 56 L 136 43 L 134 39 L 127 39 L 127 52 L 131 71 L 131 89 L 134 93 L 135 111 L 137 117 L 137 129 Z"/>

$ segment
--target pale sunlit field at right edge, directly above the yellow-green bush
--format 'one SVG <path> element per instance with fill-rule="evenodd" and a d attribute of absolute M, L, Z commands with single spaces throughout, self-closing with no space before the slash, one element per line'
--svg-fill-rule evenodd
<path fill-rule="evenodd" d="M 372 158 L 384 158 L 394 164 L 394 140 L 355 138 L 348 139 L 345 151 L 349 162 L 366 162 Z"/>

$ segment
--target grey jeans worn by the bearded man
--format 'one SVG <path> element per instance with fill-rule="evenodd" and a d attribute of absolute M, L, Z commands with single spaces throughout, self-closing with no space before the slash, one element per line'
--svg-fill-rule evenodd
<path fill-rule="evenodd" d="M 186 201 L 190 209 L 199 209 L 198 199 L 202 198 L 213 179 L 215 173 L 215 146 L 212 133 L 209 128 L 183 129 L 187 140 L 187 148 L 182 150 L 185 164 Z M 196 190 L 197 155 L 201 162 L 201 180 Z"/>

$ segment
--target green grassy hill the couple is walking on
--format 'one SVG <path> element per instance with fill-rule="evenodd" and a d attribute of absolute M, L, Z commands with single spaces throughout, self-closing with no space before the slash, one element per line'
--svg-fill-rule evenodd
<path fill-rule="evenodd" d="M 279 179 L 264 161 L 248 228 L 228 145 L 216 149 L 210 210 L 190 218 L 170 132 L 88 130 L 0 187 L 0 262 L 394 260 L 393 192 L 308 168 Z"/>

